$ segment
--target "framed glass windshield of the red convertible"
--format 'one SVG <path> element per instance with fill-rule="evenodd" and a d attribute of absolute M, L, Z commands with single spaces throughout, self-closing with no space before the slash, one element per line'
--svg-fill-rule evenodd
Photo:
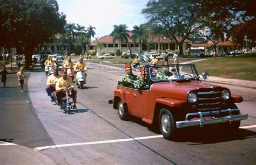
<path fill-rule="evenodd" d="M 198 72 L 192 64 L 150 67 L 150 79 L 153 82 L 197 80 L 198 78 Z"/>

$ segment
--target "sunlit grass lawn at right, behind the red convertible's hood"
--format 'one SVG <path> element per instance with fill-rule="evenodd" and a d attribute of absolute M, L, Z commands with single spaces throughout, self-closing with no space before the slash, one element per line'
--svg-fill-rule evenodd
<path fill-rule="evenodd" d="M 230 56 L 194 62 L 199 74 L 256 81 L 256 56 Z"/>

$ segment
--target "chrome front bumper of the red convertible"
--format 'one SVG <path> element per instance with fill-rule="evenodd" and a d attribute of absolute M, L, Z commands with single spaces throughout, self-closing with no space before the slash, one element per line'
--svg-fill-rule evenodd
<path fill-rule="evenodd" d="M 196 113 L 188 113 L 186 115 L 186 120 L 184 121 L 177 121 L 176 126 L 177 128 L 184 128 L 184 127 L 191 127 L 191 126 L 200 126 L 203 127 L 204 125 L 208 124 L 218 124 L 218 123 L 232 123 L 233 121 L 245 120 L 248 118 L 247 114 L 236 114 L 232 115 L 232 112 L 239 111 L 239 109 L 226 109 L 226 110 L 218 110 L 218 111 L 209 111 L 209 112 L 196 112 Z M 229 112 L 228 116 L 217 117 L 217 118 L 207 118 L 204 119 L 205 116 L 211 114 L 218 114 L 221 112 Z M 198 120 L 188 120 L 190 116 L 197 116 Z"/>

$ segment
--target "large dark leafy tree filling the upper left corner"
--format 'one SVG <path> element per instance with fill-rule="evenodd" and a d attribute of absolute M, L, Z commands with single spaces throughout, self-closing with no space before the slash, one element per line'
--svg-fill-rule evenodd
<path fill-rule="evenodd" d="M 29 68 L 35 47 L 62 31 L 65 15 L 58 12 L 56 0 L 0 0 L 0 4 L 1 43 L 24 53 Z"/>

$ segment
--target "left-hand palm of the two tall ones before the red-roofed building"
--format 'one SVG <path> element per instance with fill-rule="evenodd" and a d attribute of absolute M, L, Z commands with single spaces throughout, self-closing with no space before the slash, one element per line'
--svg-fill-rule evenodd
<path fill-rule="evenodd" d="M 130 35 L 127 33 L 127 26 L 125 24 L 114 25 L 114 30 L 110 34 L 113 37 L 113 42 L 118 40 L 118 49 L 121 50 L 122 41 L 128 42 Z"/>

